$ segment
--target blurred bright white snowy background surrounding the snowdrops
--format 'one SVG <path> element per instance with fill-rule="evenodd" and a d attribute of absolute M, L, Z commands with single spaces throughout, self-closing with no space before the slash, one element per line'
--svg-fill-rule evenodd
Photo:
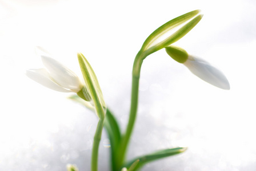
<path fill-rule="evenodd" d="M 217 66 L 230 91 L 192 75 L 164 50 L 141 72 L 139 113 L 129 157 L 173 146 L 187 152 L 142 170 L 249 171 L 256 168 L 256 1 L 0 1 L 0 170 L 90 170 L 97 117 L 68 93 L 25 76 L 42 67 L 42 46 L 79 73 L 77 52 L 93 66 L 105 101 L 125 129 L 131 69 L 143 41 L 170 19 L 201 9 L 178 46 Z M 99 167 L 107 170 L 103 134 Z"/>

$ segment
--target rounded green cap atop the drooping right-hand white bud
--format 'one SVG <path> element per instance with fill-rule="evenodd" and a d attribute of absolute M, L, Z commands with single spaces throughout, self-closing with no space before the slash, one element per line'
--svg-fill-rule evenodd
<path fill-rule="evenodd" d="M 171 58 L 179 63 L 184 63 L 186 62 L 187 58 L 189 58 L 189 54 L 187 54 L 187 51 L 178 46 L 167 46 L 165 48 L 165 51 L 169 56 L 171 56 Z"/>

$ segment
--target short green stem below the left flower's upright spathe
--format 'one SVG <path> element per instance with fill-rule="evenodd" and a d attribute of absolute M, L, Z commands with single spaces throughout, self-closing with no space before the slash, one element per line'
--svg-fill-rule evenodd
<path fill-rule="evenodd" d="M 103 119 L 99 119 L 96 132 L 94 135 L 93 141 L 93 153 L 91 155 L 91 171 L 98 170 L 98 151 L 99 151 L 99 143 L 101 141 L 102 129 L 103 129 Z"/>

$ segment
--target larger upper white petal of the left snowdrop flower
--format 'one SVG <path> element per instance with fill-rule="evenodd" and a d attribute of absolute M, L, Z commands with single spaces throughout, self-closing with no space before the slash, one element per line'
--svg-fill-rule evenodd
<path fill-rule="evenodd" d="M 46 69 L 50 72 L 51 78 L 55 83 L 67 89 L 74 91 L 81 90 L 81 84 L 77 75 L 74 74 L 69 68 L 63 66 L 57 60 L 48 56 L 41 56 L 42 62 Z"/>

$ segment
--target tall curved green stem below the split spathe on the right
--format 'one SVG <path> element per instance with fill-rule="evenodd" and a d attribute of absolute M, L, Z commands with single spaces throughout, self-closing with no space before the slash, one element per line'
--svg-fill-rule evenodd
<path fill-rule="evenodd" d="M 133 65 L 133 81 L 131 87 L 131 106 L 130 106 L 130 116 L 127 124 L 125 135 L 122 137 L 121 146 L 119 148 L 119 157 L 118 164 L 119 168 L 121 168 L 126 155 L 127 146 L 129 144 L 129 140 L 131 137 L 131 133 L 133 132 L 134 123 L 137 116 L 137 108 L 138 108 L 138 94 L 139 94 L 139 75 L 141 71 L 141 66 L 143 62 L 143 53 L 141 51 L 138 52 Z"/>

